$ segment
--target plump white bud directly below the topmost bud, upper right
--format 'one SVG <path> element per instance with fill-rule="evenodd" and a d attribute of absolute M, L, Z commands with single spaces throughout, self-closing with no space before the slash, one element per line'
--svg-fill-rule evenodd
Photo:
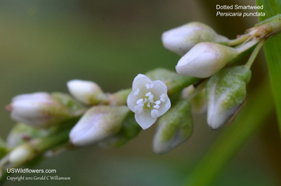
<path fill-rule="evenodd" d="M 176 72 L 189 77 L 211 77 L 237 55 L 235 48 L 202 42 L 183 55 L 176 65 Z"/>

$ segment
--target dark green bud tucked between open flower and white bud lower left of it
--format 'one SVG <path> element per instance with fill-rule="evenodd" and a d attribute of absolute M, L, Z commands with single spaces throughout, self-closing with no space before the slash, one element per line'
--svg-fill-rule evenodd
<path fill-rule="evenodd" d="M 129 112 L 123 121 L 120 131 L 116 135 L 99 142 L 98 145 L 104 148 L 121 147 L 129 140 L 135 138 L 140 132 L 141 127 L 136 122 L 133 112 Z"/>

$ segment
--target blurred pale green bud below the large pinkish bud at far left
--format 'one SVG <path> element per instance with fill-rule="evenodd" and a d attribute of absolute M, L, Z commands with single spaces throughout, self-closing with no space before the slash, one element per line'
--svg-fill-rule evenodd
<path fill-rule="evenodd" d="M 34 138 L 47 136 L 50 131 L 41 128 L 34 128 L 26 124 L 18 123 L 13 126 L 7 137 L 8 147 L 16 147 Z"/>

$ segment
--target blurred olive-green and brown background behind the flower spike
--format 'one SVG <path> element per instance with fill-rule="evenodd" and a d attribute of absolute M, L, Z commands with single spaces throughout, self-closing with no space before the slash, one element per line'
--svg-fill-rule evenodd
<path fill-rule="evenodd" d="M 95 81 L 106 92 L 129 88 L 138 73 L 156 67 L 174 70 L 179 57 L 162 47 L 165 30 L 200 21 L 234 39 L 258 21 L 216 17 L 216 4 L 226 1 L 1 0 L 1 137 L 6 138 L 14 124 L 4 107 L 15 95 L 67 92 L 70 79 Z M 230 4 L 254 5 L 254 1 Z M 263 54 L 258 58 L 248 96 L 268 76 Z M 192 137 L 167 154 L 152 152 L 154 126 L 119 149 L 83 147 L 34 167 L 55 168 L 55 175 L 71 177 L 70 181 L 8 181 L 6 185 L 182 185 L 221 132 L 209 130 L 205 114 L 195 115 L 194 120 Z M 273 113 L 212 185 L 281 185 L 280 157 Z"/>

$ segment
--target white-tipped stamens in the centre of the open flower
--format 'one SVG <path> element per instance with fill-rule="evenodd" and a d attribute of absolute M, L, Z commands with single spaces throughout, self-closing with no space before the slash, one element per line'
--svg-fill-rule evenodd
<path fill-rule="evenodd" d="M 145 84 L 145 87 L 149 90 L 150 88 L 153 88 L 154 84 Z M 136 91 L 133 93 L 133 95 L 138 96 L 140 93 L 140 89 L 136 89 Z M 143 112 L 143 109 L 149 109 L 151 117 L 157 118 L 159 116 L 158 109 L 160 108 L 160 104 L 162 102 L 166 101 L 166 95 L 162 94 L 160 95 L 159 100 L 155 100 L 154 95 L 148 91 L 145 93 L 145 96 L 139 100 L 136 101 L 136 106 L 134 108 L 135 112 L 137 114 L 141 114 Z"/>

